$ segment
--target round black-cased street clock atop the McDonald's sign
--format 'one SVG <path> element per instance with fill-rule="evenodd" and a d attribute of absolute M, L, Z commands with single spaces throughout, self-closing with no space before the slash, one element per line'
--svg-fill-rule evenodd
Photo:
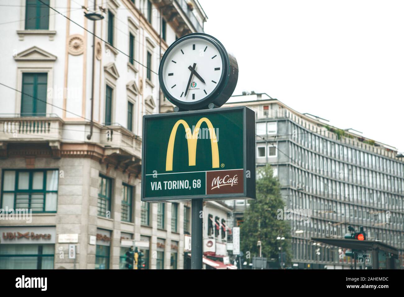
<path fill-rule="evenodd" d="M 236 88 L 238 65 L 219 40 L 192 33 L 168 47 L 158 78 L 165 97 L 181 110 L 220 107 Z"/>

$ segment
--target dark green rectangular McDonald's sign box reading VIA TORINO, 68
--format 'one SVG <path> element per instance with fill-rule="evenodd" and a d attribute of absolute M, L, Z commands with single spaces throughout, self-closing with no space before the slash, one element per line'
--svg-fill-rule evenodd
<path fill-rule="evenodd" d="M 245 106 L 143 116 L 141 200 L 255 199 L 255 113 Z"/>

